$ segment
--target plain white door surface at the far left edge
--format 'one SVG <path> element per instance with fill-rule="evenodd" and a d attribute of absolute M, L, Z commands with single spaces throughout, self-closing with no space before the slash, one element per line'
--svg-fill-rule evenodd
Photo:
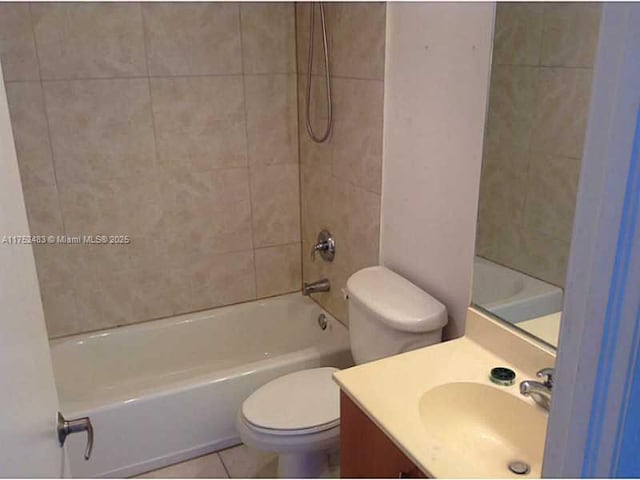
<path fill-rule="evenodd" d="M 58 397 L 0 68 L 0 475 L 63 476 Z"/>

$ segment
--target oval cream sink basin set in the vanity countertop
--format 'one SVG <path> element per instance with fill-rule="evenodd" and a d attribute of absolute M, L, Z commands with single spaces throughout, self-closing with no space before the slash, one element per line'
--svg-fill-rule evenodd
<path fill-rule="evenodd" d="M 420 418 L 427 434 L 452 457 L 469 465 L 469 477 L 540 477 L 547 430 L 541 408 L 479 383 L 448 383 L 420 398 Z M 527 474 L 509 470 L 524 462 Z"/>

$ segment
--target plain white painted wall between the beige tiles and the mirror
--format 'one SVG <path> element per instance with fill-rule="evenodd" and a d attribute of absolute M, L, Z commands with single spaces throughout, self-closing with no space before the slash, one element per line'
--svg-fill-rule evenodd
<path fill-rule="evenodd" d="M 471 299 L 493 3 L 389 3 L 380 261 L 447 305 Z"/>

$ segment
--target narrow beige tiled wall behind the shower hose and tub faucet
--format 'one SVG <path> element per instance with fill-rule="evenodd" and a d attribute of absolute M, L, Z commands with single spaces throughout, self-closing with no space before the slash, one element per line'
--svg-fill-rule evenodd
<path fill-rule="evenodd" d="M 334 127 L 330 140 L 313 143 L 306 132 L 305 88 L 309 4 L 296 5 L 303 278 L 331 281 L 331 292 L 314 298 L 347 321 L 342 288 L 356 270 L 378 264 L 386 6 L 326 4 L 332 65 Z M 316 21 L 318 21 L 316 15 Z M 312 81 L 312 121 L 326 120 L 319 23 Z M 337 242 L 332 263 L 309 256 L 316 235 L 328 228 Z"/>

